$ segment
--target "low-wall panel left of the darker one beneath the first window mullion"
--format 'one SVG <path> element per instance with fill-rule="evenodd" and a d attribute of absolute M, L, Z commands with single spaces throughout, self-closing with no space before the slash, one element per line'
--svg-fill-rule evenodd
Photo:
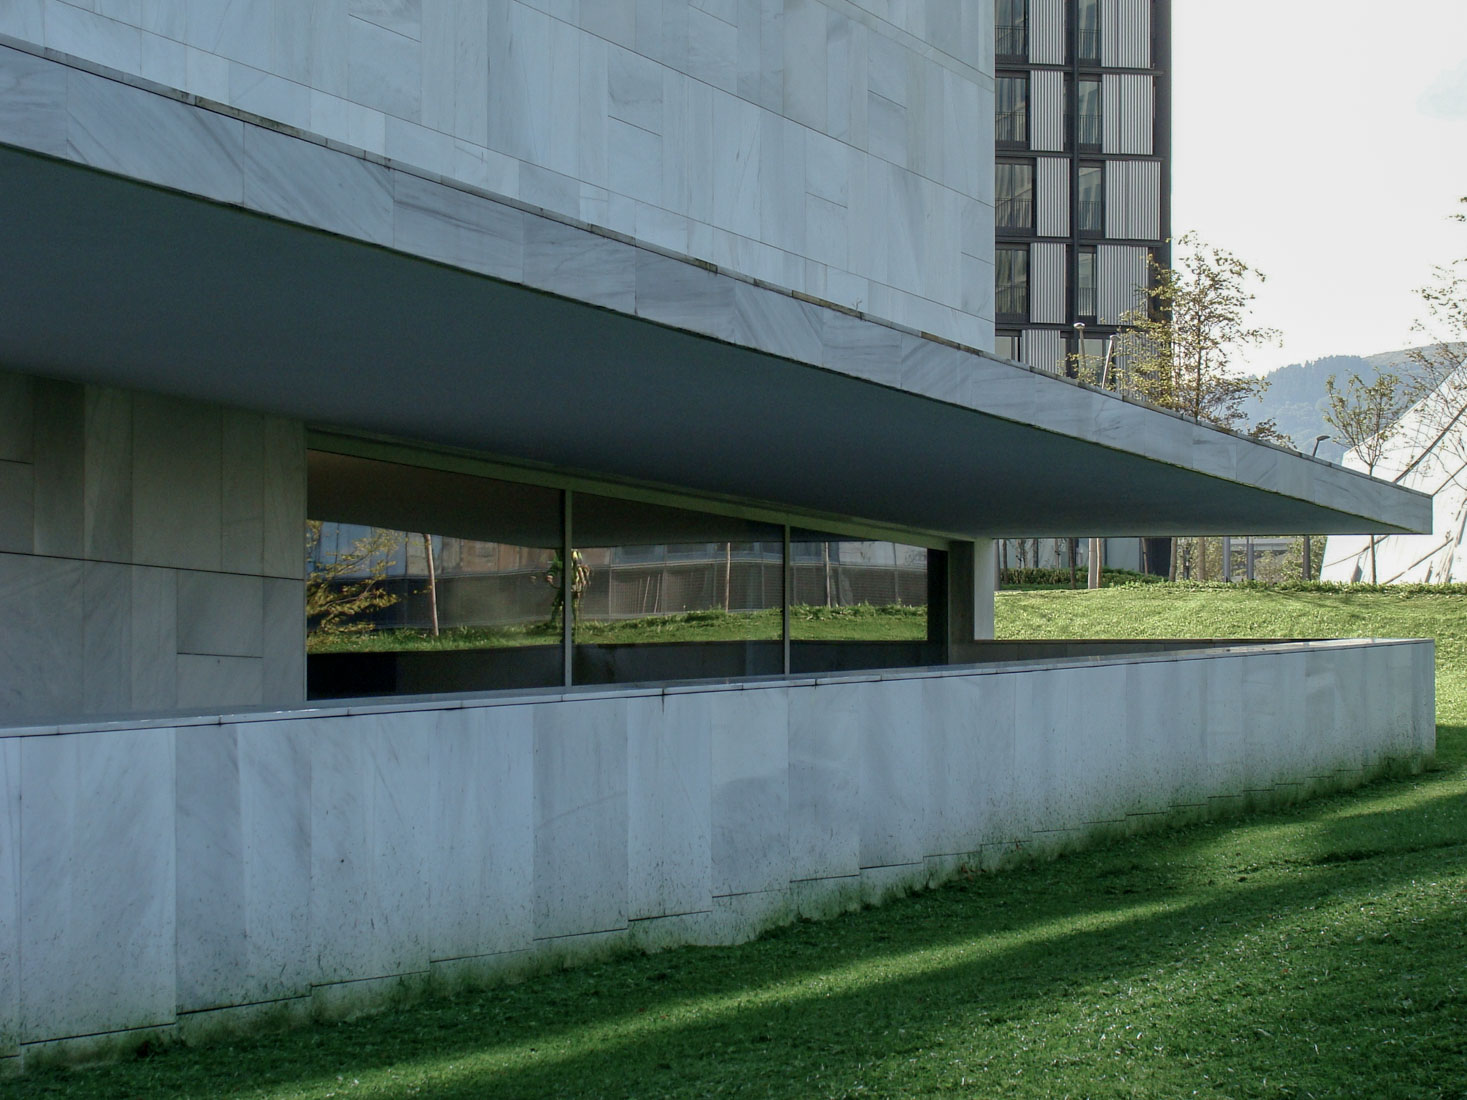
<path fill-rule="evenodd" d="M 440 711 L 430 752 L 430 956 L 531 946 L 534 708 Z"/>

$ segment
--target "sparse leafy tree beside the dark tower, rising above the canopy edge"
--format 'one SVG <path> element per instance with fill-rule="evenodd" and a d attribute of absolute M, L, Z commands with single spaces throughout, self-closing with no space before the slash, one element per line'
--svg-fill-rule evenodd
<path fill-rule="evenodd" d="M 1253 282 L 1262 271 L 1196 233 L 1177 241 L 1179 265 L 1150 261 L 1144 308 L 1121 318 L 1121 362 L 1128 389 L 1199 424 L 1247 430 L 1245 405 L 1256 402 L 1267 381 L 1243 373 L 1237 356 L 1250 346 L 1276 343 L 1275 329 L 1248 320 Z M 1273 421 L 1247 430 L 1253 439 L 1282 441 Z M 1177 579 L 1178 543 L 1172 543 Z M 1206 544 L 1199 546 L 1199 579 L 1207 579 Z"/>

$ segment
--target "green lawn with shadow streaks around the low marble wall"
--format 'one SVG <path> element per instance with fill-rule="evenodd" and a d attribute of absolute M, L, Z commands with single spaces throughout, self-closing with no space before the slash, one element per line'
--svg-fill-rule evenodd
<path fill-rule="evenodd" d="M 1030 637 L 1438 637 L 1439 760 L 729 949 L 0 1090 L 72 1097 L 1467 1096 L 1467 597 L 1012 593 Z"/>

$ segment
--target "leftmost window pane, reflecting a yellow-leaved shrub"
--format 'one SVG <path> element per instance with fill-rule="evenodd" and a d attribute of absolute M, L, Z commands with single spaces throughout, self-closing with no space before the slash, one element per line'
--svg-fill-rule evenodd
<path fill-rule="evenodd" d="M 560 682 L 560 493 L 310 452 L 312 698 Z"/>

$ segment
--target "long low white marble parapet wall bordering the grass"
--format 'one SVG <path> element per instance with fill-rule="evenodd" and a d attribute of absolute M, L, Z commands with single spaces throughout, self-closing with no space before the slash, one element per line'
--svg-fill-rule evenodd
<path fill-rule="evenodd" d="M 1420 767 L 1432 700 L 1332 641 L 0 730 L 0 1059 L 745 940 Z"/>

